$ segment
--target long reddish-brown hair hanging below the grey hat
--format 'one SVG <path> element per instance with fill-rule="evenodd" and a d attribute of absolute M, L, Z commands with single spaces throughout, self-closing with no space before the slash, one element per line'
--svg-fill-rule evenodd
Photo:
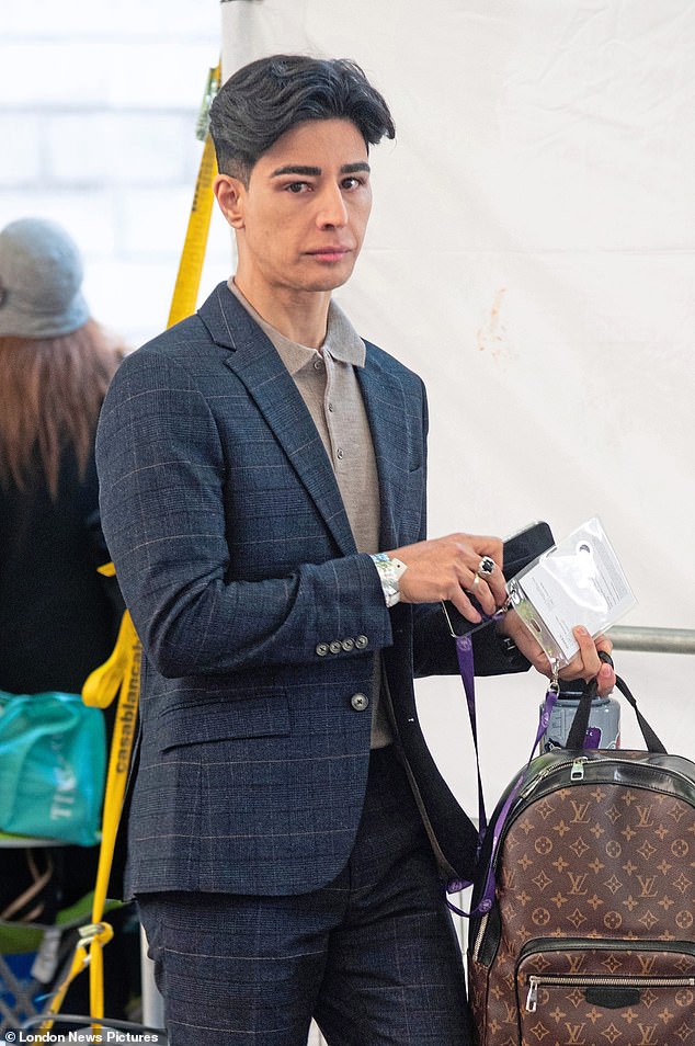
<path fill-rule="evenodd" d="M 31 486 L 36 461 L 50 497 L 58 496 L 60 458 L 72 445 L 84 475 L 102 400 L 124 349 L 88 320 L 71 334 L 0 337 L 0 484 Z"/>

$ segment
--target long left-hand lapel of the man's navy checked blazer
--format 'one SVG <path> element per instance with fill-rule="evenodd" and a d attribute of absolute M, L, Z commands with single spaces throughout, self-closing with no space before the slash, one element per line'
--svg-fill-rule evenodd
<path fill-rule="evenodd" d="M 275 346 L 226 284 L 198 311 L 213 340 L 233 350 L 227 366 L 243 382 L 344 555 L 356 552 L 335 476 L 300 393 Z"/>

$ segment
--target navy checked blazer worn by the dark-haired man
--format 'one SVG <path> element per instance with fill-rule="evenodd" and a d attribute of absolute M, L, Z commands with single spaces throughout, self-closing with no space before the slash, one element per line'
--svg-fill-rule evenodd
<path fill-rule="evenodd" d="M 424 387 L 369 343 L 357 373 L 380 547 L 397 548 L 425 537 Z M 457 671 L 443 615 L 385 606 L 301 396 L 226 284 L 124 361 L 96 453 L 104 534 L 144 648 L 128 896 L 330 882 L 362 811 L 379 656 L 443 871 L 469 872 L 475 830 L 413 695 L 413 673 Z M 477 633 L 479 673 L 525 667 L 492 629 Z"/>

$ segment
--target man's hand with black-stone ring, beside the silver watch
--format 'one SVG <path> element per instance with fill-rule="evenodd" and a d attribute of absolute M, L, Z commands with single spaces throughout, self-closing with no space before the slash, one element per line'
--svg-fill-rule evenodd
<path fill-rule="evenodd" d="M 470 602 L 476 600 L 486 614 L 493 614 L 506 599 L 502 573 L 502 542 L 499 537 L 476 534 L 449 534 L 388 553 L 408 567 L 400 577 L 403 603 L 435 603 L 451 600 L 467 621 L 478 624 L 482 617 Z M 495 567 L 485 579 L 477 571 L 483 556 Z"/>

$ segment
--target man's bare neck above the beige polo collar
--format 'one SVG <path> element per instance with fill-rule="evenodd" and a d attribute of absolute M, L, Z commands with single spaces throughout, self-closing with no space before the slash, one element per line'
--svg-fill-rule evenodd
<path fill-rule="evenodd" d="M 289 291 L 249 285 L 239 273 L 235 284 L 266 323 L 289 341 L 320 349 L 326 339 L 330 291 Z"/>

